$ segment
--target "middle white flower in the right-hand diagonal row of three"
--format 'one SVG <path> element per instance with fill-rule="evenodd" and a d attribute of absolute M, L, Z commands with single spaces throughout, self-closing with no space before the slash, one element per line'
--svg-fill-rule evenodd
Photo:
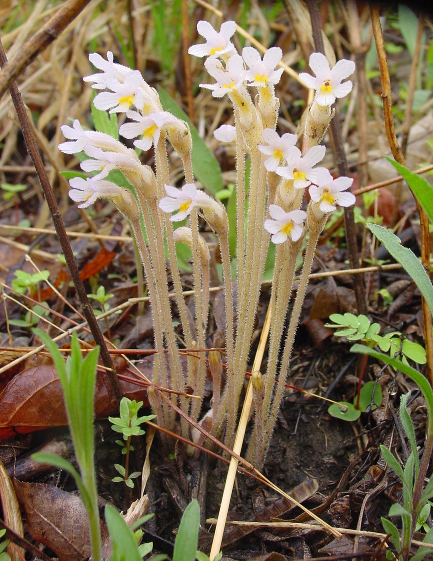
<path fill-rule="evenodd" d="M 292 146 L 286 155 L 287 165 L 278 167 L 276 172 L 287 180 L 293 180 L 295 189 L 304 189 L 310 183 L 315 183 L 320 169 L 325 169 L 314 169 L 316 163 L 323 160 L 325 151 L 326 148 L 323 145 L 313 146 L 302 156 L 301 150 Z"/>

